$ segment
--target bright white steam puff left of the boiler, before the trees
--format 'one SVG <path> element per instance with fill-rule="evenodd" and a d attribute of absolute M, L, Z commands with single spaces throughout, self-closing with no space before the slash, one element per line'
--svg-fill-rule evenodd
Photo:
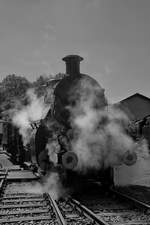
<path fill-rule="evenodd" d="M 48 111 L 48 106 L 44 104 L 44 98 L 38 98 L 33 89 L 29 89 L 26 95 L 28 104 L 22 106 L 21 110 L 16 110 L 12 118 L 13 124 L 19 128 L 24 144 L 30 140 L 32 132 L 30 124 L 42 119 Z"/>

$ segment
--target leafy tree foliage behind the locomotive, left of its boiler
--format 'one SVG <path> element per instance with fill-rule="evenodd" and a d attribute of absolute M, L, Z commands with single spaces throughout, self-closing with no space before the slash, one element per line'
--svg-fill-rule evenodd
<path fill-rule="evenodd" d="M 27 104 L 26 92 L 29 88 L 34 88 L 37 96 L 45 96 L 49 81 L 60 80 L 64 76 L 65 74 L 62 73 L 55 76 L 41 75 L 34 82 L 30 82 L 25 77 L 16 74 L 6 76 L 0 83 L 0 116 L 1 114 L 8 115 L 9 110 Z"/>

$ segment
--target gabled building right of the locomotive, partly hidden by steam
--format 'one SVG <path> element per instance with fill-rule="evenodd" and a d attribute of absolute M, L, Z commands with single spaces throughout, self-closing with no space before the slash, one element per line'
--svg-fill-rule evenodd
<path fill-rule="evenodd" d="M 137 133 L 145 137 L 150 147 L 150 98 L 136 93 L 123 99 L 117 106 L 121 108 L 134 124 L 138 125 Z M 137 162 L 132 166 L 114 167 L 114 184 L 142 185 L 150 187 L 150 156 L 138 155 Z"/>

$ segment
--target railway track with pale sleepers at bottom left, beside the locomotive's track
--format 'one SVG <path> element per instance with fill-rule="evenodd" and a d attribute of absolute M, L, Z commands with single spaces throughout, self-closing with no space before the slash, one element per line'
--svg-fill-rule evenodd
<path fill-rule="evenodd" d="M 49 194 L 28 193 L 30 182 L 9 182 L 6 177 L 0 185 L 0 224 L 65 225 Z"/>

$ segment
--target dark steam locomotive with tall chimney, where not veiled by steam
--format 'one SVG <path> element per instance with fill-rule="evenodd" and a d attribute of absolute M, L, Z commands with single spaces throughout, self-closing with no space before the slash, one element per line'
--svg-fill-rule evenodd
<path fill-rule="evenodd" d="M 40 123 L 35 133 L 35 154 L 37 164 L 43 171 L 57 170 L 65 172 L 65 179 L 72 182 L 73 178 L 79 180 L 79 177 L 88 179 L 97 179 L 103 185 L 113 185 L 113 169 L 102 167 L 98 171 L 89 170 L 84 176 L 78 173 L 75 168 L 78 165 L 79 158 L 72 151 L 70 142 L 73 139 L 72 108 L 77 110 L 77 105 L 81 98 L 92 98 L 92 108 L 94 110 L 103 109 L 107 106 L 107 100 L 104 96 L 104 89 L 96 80 L 86 74 L 80 73 L 80 62 L 83 60 L 78 55 L 69 55 L 63 58 L 66 62 L 66 76 L 60 80 L 52 80 L 49 84 L 54 87 L 53 104 L 46 117 Z M 93 93 L 94 92 L 94 93 Z M 96 97 L 95 97 L 96 96 Z M 77 113 L 77 112 L 76 112 Z M 82 112 L 81 112 L 82 114 Z M 55 165 L 51 162 L 51 157 L 47 149 L 47 143 L 58 143 L 59 150 Z M 52 146 L 50 146 L 52 148 Z M 56 146 L 55 146 L 56 148 Z M 57 150 L 55 150 L 57 151 Z M 135 163 L 136 156 L 126 154 L 126 164 Z M 63 175 L 62 175 L 63 177 Z"/>

